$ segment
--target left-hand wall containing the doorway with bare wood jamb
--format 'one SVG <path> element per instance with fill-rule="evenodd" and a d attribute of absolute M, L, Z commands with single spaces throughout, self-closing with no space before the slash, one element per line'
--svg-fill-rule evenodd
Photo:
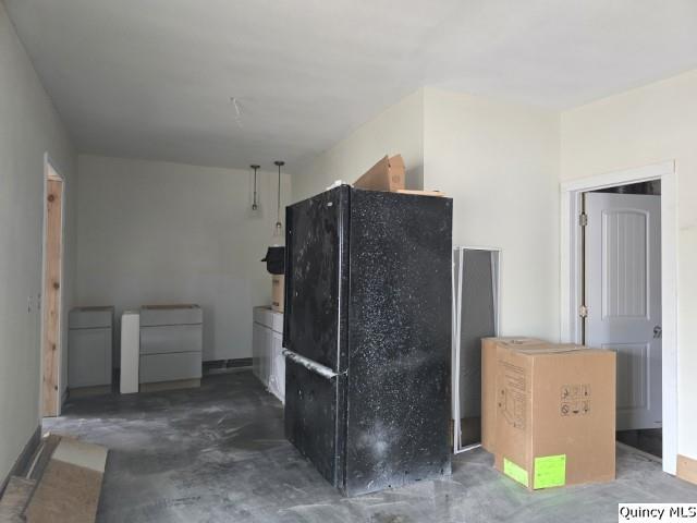
<path fill-rule="evenodd" d="M 0 482 L 40 423 L 40 312 L 36 306 L 27 312 L 27 300 L 36 304 L 41 292 L 46 151 L 66 178 L 68 309 L 74 275 L 74 153 L 0 2 Z"/>

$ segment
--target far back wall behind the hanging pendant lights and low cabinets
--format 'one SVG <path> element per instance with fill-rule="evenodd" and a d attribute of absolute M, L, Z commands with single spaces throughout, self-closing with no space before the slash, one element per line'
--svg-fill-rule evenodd
<path fill-rule="evenodd" d="M 204 360 L 250 357 L 252 307 L 271 295 L 259 260 L 284 243 L 273 238 L 278 174 L 259 172 L 262 216 L 252 217 L 250 170 L 81 155 L 78 172 L 80 304 L 115 305 L 120 316 L 198 303 Z M 286 174 L 281 193 L 285 205 Z"/>

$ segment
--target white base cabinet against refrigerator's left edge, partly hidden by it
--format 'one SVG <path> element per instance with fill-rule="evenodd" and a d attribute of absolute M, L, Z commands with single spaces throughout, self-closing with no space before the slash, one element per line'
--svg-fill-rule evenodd
<path fill-rule="evenodd" d="M 254 308 L 252 370 L 269 392 L 285 402 L 283 313 L 269 307 Z"/>

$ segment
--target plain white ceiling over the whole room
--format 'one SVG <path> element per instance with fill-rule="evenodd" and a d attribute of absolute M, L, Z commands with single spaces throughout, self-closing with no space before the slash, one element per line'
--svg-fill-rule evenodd
<path fill-rule="evenodd" d="M 561 109 L 697 68 L 695 0 L 4 1 L 80 151 L 204 166 L 292 172 L 423 85 Z"/>

